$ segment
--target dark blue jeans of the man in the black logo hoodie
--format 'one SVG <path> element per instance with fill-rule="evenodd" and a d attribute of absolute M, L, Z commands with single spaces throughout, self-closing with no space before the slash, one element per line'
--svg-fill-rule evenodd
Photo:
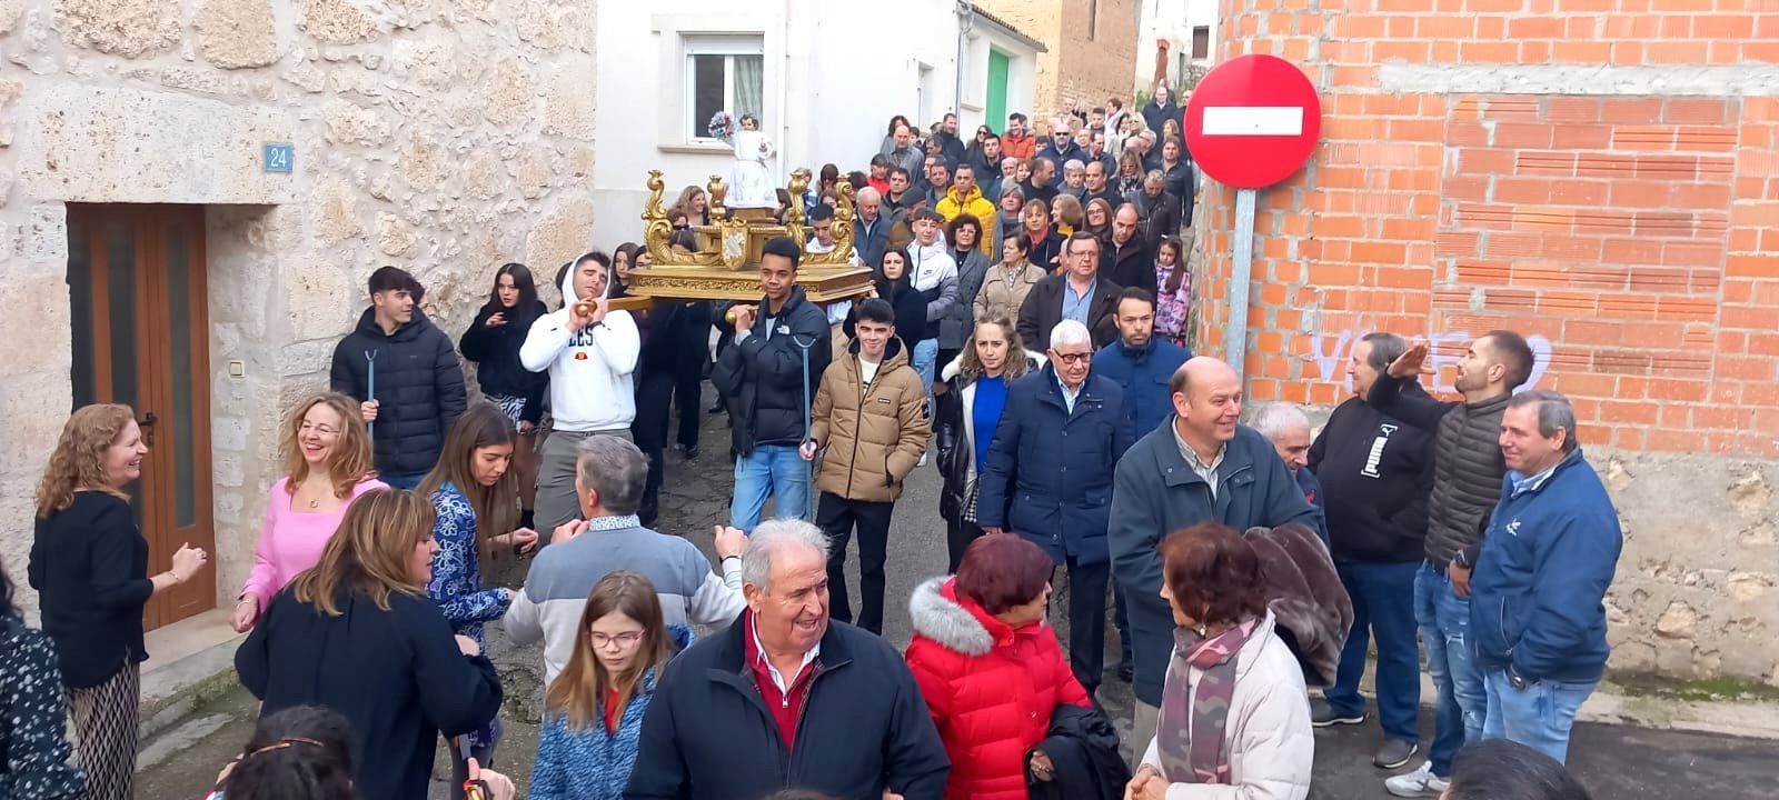
<path fill-rule="evenodd" d="M 1421 663 L 1414 642 L 1414 572 L 1421 565 L 1340 562 L 1334 569 L 1347 587 L 1347 596 L 1352 597 L 1352 631 L 1347 633 L 1347 647 L 1340 651 L 1334 686 L 1322 697 L 1341 716 L 1364 713 L 1359 677 L 1364 676 L 1370 636 L 1377 635 L 1377 720 L 1384 725 L 1384 736 L 1420 741 L 1414 718 L 1421 704 Z"/>

